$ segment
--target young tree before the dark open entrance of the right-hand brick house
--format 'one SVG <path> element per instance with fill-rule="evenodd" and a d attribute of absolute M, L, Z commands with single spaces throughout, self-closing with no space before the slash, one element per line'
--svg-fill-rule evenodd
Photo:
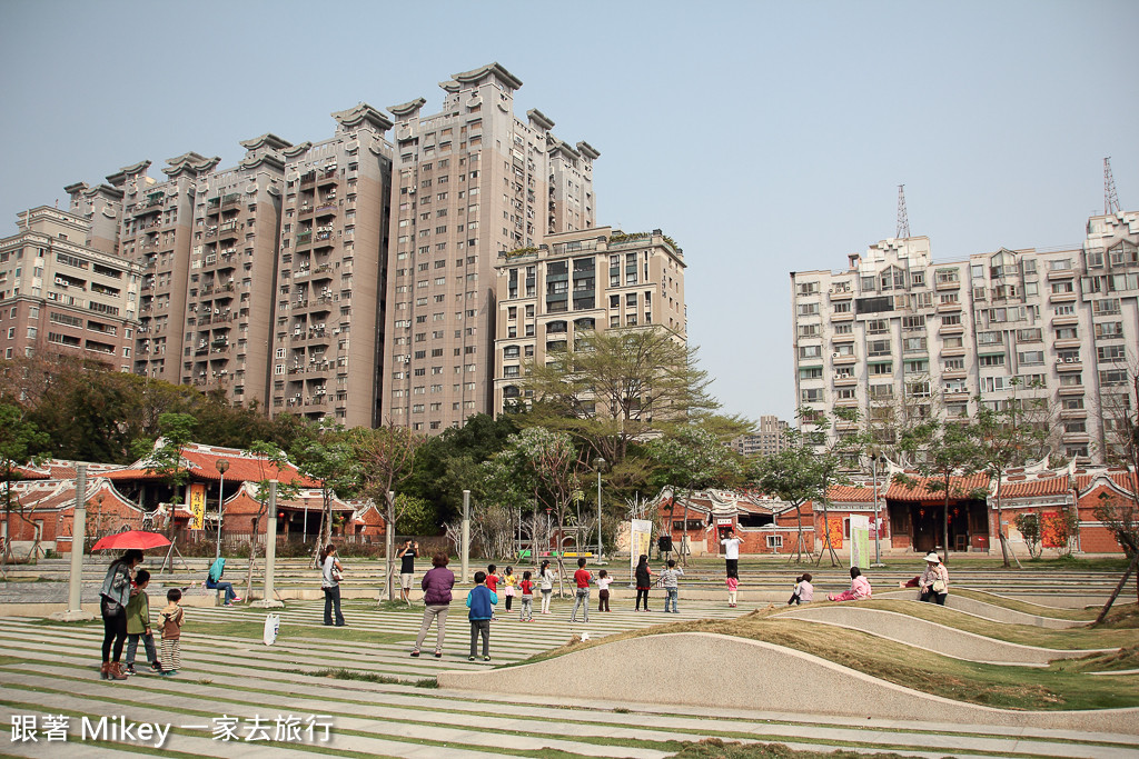
<path fill-rule="evenodd" d="M 941 493 L 943 496 L 941 533 L 945 550 L 942 560 L 949 563 L 950 500 L 984 498 L 986 494 L 985 489 L 980 493 L 966 490 L 953 481 L 958 477 L 960 482 L 978 470 L 981 451 L 976 439 L 960 423 L 929 420 L 907 430 L 902 435 L 899 451 L 907 456 L 920 477 L 899 473 L 894 476 L 894 481 L 909 488 L 925 485 L 928 492 Z"/>

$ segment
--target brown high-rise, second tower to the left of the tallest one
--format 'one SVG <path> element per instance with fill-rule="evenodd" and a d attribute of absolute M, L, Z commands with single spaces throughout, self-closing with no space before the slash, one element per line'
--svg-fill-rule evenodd
<path fill-rule="evenodd" d="M 237 166 L 195 182 L 181 382 L 267 406 L 285 184 L 280 151 L 290 143 L 263 134 L 241 147 Z"/>

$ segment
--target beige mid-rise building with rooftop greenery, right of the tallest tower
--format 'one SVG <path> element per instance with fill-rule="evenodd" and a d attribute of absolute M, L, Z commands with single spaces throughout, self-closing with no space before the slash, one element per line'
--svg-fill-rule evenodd
<path fill-rule="evenodd" d="M 687 340 L 685 266 L 683 251 L 661 230 L 598 226 L 500 253 L 494 413 L 526 403 L 527 362 L 565 350 L 583 332 L 662 327 Z"/>

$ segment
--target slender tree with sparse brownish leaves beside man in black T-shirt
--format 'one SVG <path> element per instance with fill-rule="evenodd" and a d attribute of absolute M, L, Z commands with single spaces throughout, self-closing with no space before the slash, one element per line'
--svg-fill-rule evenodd
<path fill-rule="evenodd" d="M 353 455 L 359 463 L 360 490 L 376 503 L 385 504 L 384 545 L 387 564 L 387 599 L 395 597 L 395 526 L 400 518 L 394 490 L 415 471 L 416 449 L 424 443 L 405 427 L 388 424 L 376 429 L 358 427 L 349 432 Z"/>

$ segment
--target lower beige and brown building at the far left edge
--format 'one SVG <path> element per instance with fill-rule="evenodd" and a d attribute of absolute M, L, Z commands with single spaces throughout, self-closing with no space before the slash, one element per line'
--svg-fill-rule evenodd
<path fill-rule="evenodd" d="M 0 240 L 0 355 L 65 353 L 130 371 L 140 269 L 88 245 L 84 215 L 39 206 L 17 218 Z"/>

